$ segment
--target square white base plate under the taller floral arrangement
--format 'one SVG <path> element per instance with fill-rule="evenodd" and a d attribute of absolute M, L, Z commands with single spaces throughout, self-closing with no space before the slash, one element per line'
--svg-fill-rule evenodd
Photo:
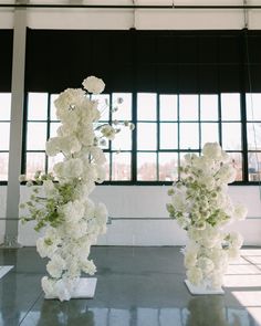
<path fill-rule="evenodd" d="M 93 298 L 95 294 L 97 278 L 96 277 L 82 277 L 79 281 L 77 287 L 72 294 L 71 298 Z M 58 298 L 58 296 L 46 297 L 46 299 Z"/>

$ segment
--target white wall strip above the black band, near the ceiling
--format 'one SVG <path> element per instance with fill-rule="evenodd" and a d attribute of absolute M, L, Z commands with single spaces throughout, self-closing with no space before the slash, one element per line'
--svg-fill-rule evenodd
<path fill-rule="evenodd" d="M 4 1 L 10 2 L 10 1 Z M 12 1 L 11 1 L 12 2 Z M 39 1 L 31 3 L 69 3 L 70 1 Z M 72 2 L 72 1 L 71 1 Z M 130 0 L 88 0 L 84 4 L 133 4 Z M 176 6 L 189 4 L 234 4 L 241 0 L 175 0 Z M 173 4 L 171 0 L 137 0 L 136 4 Z M 259 0 L 249 0 L 248 4 L 260 4 Z M 13 9 L 0 8 L 0 29 L 13 27 Z M 261 29 L 261 10 L 249 10 L 249 29 Z M 242 29 L 243 10 L 148 10 L 139 9 L 28 9 L 28 27 L 32 29 L 129 29 L 140 30 L 212 30 Z"/>

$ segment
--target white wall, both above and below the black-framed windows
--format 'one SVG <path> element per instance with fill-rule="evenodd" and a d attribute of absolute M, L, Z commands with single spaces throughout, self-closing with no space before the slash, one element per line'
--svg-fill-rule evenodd
<path fill-rule="evenodd" d="M 13 1 L 4 1 L 13 2 Z M 34 3 L 44 1 L 34 0 Z M 54 1 L 45 1 L 51 3 Z M 58 1 L 55 1 L 58 3 Z M 63 3 L 66 1 L 60 0 Z M 121 4 L 130 1 L 123 0 Z M 169 4 L 171 1 L 138 0 L 137 4 Z M 258 0 L 248 4 L 260 4 Z M 105 1 L 83 0 L 83 3 L 105 3 Z M 106 0 L 106 4 L 114 3 Z M 132 4 L 132 2 L 129 3 Z M 238 0 L 179 0 L 175 4 L 242 4 Z M 249 10 L 249 29 L 261 29 L 261 10 Z M 200 30 L 200 29 L 242 29 L 244 27 L 242 10 L 86 10 L 86 9 L 30 9 L 28 27 L 32 29 L 166 29 L 166 30 Z M 13 10 L 0 8 L 0 29 L 13 28 Z M 121 44 L 119 44 L 121 46 Z M 100 186 L 93 198 L 103 201 L 111 217 L 129 218 L 113 221 L 106 235 L 100 238 L 98 244 L 126 245 L 171 245 L 184 244 L 186 234 L 175 221 L 149 220 L 149 218 L 167 218 L 165 204 L 168 201 L 167 187 L 138 186 Z M 239 230 L 244 244 L 261 245 L 261 203 L 258 187 L 230 187 L 234 201 L 243 202 L 249 208 L 246 221 L 231 225 Z M 28 189 L 21 187 L 21 201 L 28 196 Z M 0 218 L 6 217 L 7 187 L 0 187 Z M 143 218 L 136 220 L 135 218 Z M 4 223 L 0 220 L 0 243 L 3 241 Z M 32 223 L 20 225 L 19 240 L 23 245 L 34 245 L 39 236 Z"/>

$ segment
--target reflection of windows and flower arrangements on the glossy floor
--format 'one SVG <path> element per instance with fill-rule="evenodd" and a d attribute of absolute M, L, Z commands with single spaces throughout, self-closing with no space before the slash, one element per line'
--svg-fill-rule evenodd
<path fill-rule="evenodd" d="M 22 324 L 23 325 L 23 324 Z M 258 326 L 244 309 L 226 308 L 219 295 L 195 297 L 184 308 L 87 307 L 85 301 L 44 301 L 40 312 L 31 312 L 24 325 L 75 326 Z"/>

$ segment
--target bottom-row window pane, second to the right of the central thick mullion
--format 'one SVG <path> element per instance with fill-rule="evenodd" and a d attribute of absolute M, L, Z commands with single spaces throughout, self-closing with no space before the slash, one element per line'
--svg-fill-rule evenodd
<path fill-rule="evenodd" d="M 176 153 L 159 153 L 159 180 L 174 181 L 178 178 L 178 155 Z"/>

